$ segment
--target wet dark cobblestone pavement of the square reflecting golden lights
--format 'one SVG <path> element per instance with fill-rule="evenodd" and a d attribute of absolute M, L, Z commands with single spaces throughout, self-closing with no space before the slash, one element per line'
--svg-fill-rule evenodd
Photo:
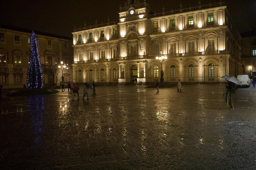
<path fill-rule="evenodd" d="M 4 96 L 0 169 L 256 169 L 256 88 L 144 87 Z"/>

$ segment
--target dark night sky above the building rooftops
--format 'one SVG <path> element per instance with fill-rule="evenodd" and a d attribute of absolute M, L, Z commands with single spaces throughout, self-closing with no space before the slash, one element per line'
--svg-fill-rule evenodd
<path fill-rule="evenodd" d="M 201 0 L 202 4 L 219 0 Z M 225 0 L 223 0 L 225 1 Z M 143 0 L 140 0 L 143 2 Z M 146 0 L 151 12 L 198 6 L 198 0 Z M 189 2 L 189 3 L 188 3 Z M 226 0 L 226 5 L 240 33 L 250 31 L 256 23 L 256 0 Z M 0 0 L 0 24 L 72 37 L 74 25 L 83 27 L 119 19 L 124 0 Z"/>

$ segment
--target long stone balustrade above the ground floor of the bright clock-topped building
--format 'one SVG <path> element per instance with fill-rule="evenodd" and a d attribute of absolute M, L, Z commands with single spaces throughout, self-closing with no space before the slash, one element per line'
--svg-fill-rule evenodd
<path fill-rule="evenodd" d="M 223 55 L 223 54 L 229 54 L 229 51 L 223 50 L 223 51 L 186 52 L 186 53 L 164 54 L 164 56 L 167 56 L 168 58 L 172 58 L 172 57 L 184 57 L 184 56 Z M 111 61 L 135 60 L 135 59 L 155 59 L 156 57 L 159 57 L 159 56 L 160 55 L 124 56 L 124 57 L 109 58 L 109 59 L 75 61 L 74 64 L 111 62 Z"/>

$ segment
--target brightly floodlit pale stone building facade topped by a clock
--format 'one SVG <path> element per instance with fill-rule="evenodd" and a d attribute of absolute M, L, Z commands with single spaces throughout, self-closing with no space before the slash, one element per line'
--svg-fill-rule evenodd
<path fill-rule="evenodd" d="M 121 7 L 118 23 L 85 27 L 72 33 L 75 82 L 128 84 L 137 78 L 140 84 L 150 84 L 160 79 L 161 67 L 165 82 L 169 83 L 179 79 L 183 82 L 220 82 L 224 75 L 241 73 L 241 36 L 226 6 L 201 6 L 194 8 L 195 11 L 190 8 L 158 14 L 149 14 L 147 7 L 145 2 Z M 134 14 L 130 14 L 131 10 Z M 208 14 L 213 21 L 208 22 Z M 193 24 L 191 20 L 189 23 L 191 17 Z M 171 26 L 172 20 L 175 24 Z M 119 31 L 117 37 L 113 37 L 115 28 Z M 99 38 L 103 30 L 104 37 Z M 83 36 L 90 33 L 93 35 L 90 40 Z M 118 56 L 114 56 L 117 49 Z M 91 53 L 93 58 L 90 58 Z M 162 65 L 156 60 L 161 56 L 167 57 Z M 117 79 L 112 78 L 114 68 Z M 88 78 L 89 74 L 93 77 Z"/>

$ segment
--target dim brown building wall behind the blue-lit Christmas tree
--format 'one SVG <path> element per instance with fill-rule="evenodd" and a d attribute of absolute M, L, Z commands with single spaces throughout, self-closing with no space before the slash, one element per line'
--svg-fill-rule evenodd
<path fill-rule="evenodd" d="M 31 34 L 3 28 L 0 28 L 0 34 L 4 35 L 4 39 L 0 39 L 0 55 L 5 55 L 3 58 L 0 56 L 0 76 L 2 76 L 2 79 L 5 76 L 6 79 L 5 83 L 0 82 L 0 84 L 3 85 L 3 88 L 22 88 L 23 84 L 27 86 L 27 72 L 31 51 L 28 39 L 31 38 Z M 20 41 L 15 41 L 15 36 L 19 36 Z M 67 68 L 70 68 L 64 70 L 63 74 L 68 76 L 68 81 L 72 81 L 72 41 L 42 35 L 36 35 L 36 38 L 43 73 L 43 85 L 59 85 L 62 72 L 58 69 L 58 64 L 61 61 L 64 61 L 64 64 L 67 64 Z M 48 41 L 51 42 L 49 45 Z M 16 56 L 20 56 L 20 59 Z M 50 58 L 51 64 L 50 62 L 48 63 Z M 18 80 L 19 77 L 16 76 L 20 76 L 20 82 Z M 51 77 L 51 83 L 48 82 L 48 77 Z"/>

